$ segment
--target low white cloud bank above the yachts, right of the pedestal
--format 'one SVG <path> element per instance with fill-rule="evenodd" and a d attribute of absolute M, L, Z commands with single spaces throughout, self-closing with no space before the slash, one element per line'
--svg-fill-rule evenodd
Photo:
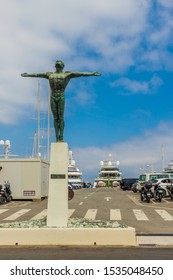
<path fill-rule="evenodd" d="M 120 161 L 120 169 L 125 177 L 138 177 L 141 169 L 145 168 L 147 171 L 147 165 L 151 164 L 155 171 L 161 171 L 162 165 L 166 167 L 173 159 L 172 127 L 173 123 L 161 122 L 156 129 L 121 143 L 100 148 L 75 148 L 74 158 L 77 165 L 85 171 L 84 177 L 90 180 L 97 175 L 100 161 L 107 160 L 109 153 L 114 161 Z"/>

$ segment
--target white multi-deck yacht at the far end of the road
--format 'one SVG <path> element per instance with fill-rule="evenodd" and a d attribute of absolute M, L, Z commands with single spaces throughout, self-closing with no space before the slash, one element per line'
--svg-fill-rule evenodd
<path fill-rule="evenodd" d="M 120 185 L 122 173 L 119 170 L 119 161 L 112 161 L 111 154 L 109 160 L 100 162 L 100 171 L 94 180 L 93 187 L 116 187 Z"/>

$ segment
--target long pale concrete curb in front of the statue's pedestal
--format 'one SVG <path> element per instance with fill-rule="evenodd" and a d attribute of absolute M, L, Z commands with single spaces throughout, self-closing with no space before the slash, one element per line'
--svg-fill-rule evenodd
<path fill-rule="evenodd" d="M 136 231 L 128 228 L 1 228 L 0 245 L 137 246 Z"/>

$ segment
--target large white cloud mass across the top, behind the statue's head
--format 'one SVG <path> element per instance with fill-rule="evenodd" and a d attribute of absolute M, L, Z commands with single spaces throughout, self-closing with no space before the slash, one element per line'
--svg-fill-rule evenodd
<path fill-rule="evenodd" d="M 159 3 L 172 7 L 171 1 Z M 1 5 L 0 100 L 3 106 L 10 102 L 19 110 L 9 116 L 4 106 L 0 122 L 6 115 L 9 122 L 19 120 L 26 114 L 26 104 L 37 106 L 33 104 L 36 81 L 21 78 L 20 73 L 54 71 L 58 58 L 74 71 L 101 69 L 113 74 L 151 62 L 158 69 L 165 64 L 171 69 L 166 44 L 172 38 L 173 21 L 167 9 L 158 14 L 162 15 L 159 32 L 148 23 L 151 7 L 151 0 L 9 0 Z M 160 38 L 165 42 L 162 49 Z M 152 44 L 157 48 L 150 49 Z M 137 86 L 147 90 L 145 82 L 136 81 Z"/>

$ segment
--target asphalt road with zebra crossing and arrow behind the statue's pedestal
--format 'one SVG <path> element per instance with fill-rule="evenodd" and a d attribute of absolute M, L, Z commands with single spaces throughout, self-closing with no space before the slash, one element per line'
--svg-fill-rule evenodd
<path fill-rule="evenodd" d="M 0 205 L 0 223 L 46 216 L 47 199 L 40 202 L 12 201 Z M 55 209 L 56 211 L 56 209 Z M 137 234 L 173 234 L 173 201 L 141 202 L 139 193 L 119 188 L 80 189 L 69 201 L 71 218 L 116 220 L 136 228 Z"/>

